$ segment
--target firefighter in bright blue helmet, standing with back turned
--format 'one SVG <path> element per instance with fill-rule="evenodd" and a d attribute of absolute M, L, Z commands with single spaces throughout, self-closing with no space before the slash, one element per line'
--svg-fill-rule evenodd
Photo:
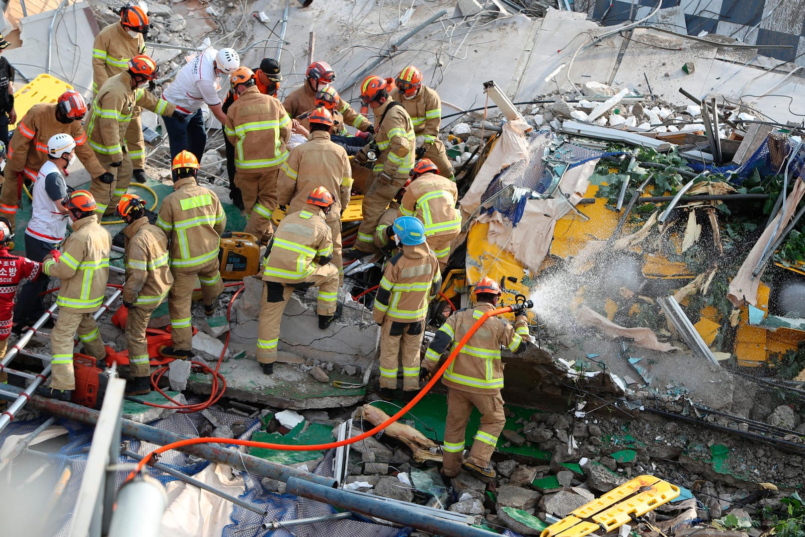
<path fill-rule="evenodd" d="M 425 229 L 415 217 L 394 221 L 402 251 L 391 258 L 374 299 L 374 320 L 381 326 L 378 394 L 391 399 L 397 389 L 398 356 L 403 361 L 406 398 L 419 390 L 419 348 L 425 333 L 427 304 L 439 291 L 436 256 L 427 247 Z"/>

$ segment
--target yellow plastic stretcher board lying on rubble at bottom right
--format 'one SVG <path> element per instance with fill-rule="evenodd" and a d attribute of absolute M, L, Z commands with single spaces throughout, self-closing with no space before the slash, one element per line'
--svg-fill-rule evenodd
<path fill-rule="evenodd" d="M 654 476 L 638 476 L 551 524 L 540 537 L 584 537 L 598 530 L 608 533 L 677 496 L 678 486 Z"/>

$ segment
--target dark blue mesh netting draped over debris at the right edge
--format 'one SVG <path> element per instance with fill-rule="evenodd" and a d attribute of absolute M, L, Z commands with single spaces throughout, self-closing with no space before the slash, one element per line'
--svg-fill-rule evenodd
<path fill-rule="evenodd" d="M 741 166 L 737 164 L 713 166 L 692 159 L 688 161 L 687 166 L 696 173 L 710 170 L 713 173 L 729 176 L 730 182 L 733 184 L 743 183 L 756 169 L 761 177 L 765 177 L 781 174 L 787 166 L 793 176 L 797 177 L 803 173 L 803 167 L 805 167 L 805 144 L 799 146 L 795 155 L 790 155 L 795 146 L 796 143 L 787 134 L 773 133 L 769 134 L 761 147 L 758 147 L 758 151 L 755 151 Z"/>

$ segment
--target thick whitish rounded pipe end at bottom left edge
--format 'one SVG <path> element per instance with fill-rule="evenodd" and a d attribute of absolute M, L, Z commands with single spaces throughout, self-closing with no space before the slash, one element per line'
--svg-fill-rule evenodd
<path fill-rule="evenodd" d="M 123 484 L 118 493 L 109 537 L 159 537 L 167 494 L 153 477 L 143 476 Z"/>

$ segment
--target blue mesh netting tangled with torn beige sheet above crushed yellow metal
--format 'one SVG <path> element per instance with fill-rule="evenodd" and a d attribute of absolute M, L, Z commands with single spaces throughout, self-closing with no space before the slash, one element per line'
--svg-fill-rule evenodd
<path fill-rule="evenodd" d="M 491 202 L 484 212 L 502 213 L 513 225 L 522 218 L 531 192 L 550 196 L 564 171 L 603 156 L 621 155 L 565 143 L 551 130 L 540 130 L 530 138 L 528 156 L 498 173 L 481 196 L 481 204 Z"/>

